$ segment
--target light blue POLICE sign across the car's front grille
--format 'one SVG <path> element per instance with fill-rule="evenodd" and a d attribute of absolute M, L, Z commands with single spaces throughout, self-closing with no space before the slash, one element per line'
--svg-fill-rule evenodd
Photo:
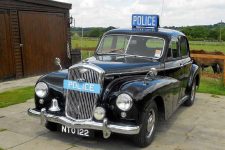
<path fill-rule="evenodd" d="M 79 81 L 72 81 L 72 80 L 64 80 L 63 88 L 67 90 L 75 90 L 75 91 L 95 93 L 95 94 L 99 94 L 101 91 L 100 84 L 79 82 Z"/>

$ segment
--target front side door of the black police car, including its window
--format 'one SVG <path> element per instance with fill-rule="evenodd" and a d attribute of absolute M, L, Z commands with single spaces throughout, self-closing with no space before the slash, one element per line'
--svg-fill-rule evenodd
<path fill-rule="evenodd" d="M 174 91 L 172 92 L 172 107 L 175 110 L 179 105 L 179 100 L 181 97 L 181 86 L 183 80 L 183 61 L 180 56 L 179 50 L 179 42 L 177 37 L 173 37 L 170 41 L 169 48 L 167 51 L 166 59 L 165 59 L 165 75 L 175 78 L 179 81 L 177 87 L 174 87 Z"/>

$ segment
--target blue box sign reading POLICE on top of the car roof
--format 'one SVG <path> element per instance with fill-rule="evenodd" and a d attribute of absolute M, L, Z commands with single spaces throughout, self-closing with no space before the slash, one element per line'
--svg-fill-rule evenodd
<path fill-rule="evenodd" d="M 159 16 L 158 15 L 143 15 L 133 14 L 132 15 L 132 27 L 159 27 Z"/>

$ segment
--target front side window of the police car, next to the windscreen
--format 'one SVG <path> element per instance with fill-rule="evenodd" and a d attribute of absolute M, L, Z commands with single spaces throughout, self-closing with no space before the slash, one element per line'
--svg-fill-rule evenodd
<path fill-rule="evenodd" d="M 179 56 L 180 56 L 180 53 L 179 53 L 179 48 L 178 48 L 178 39 L 173 38 L 170 41 L 169 49 L 167 52 L 167 59 L 173 59 L 173 58 L 176 59 Z"/>

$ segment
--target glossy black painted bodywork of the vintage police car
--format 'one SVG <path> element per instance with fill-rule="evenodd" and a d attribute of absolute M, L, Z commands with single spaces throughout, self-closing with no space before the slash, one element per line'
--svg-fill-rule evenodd
<path fill-rule="evenodd" d="M 156 36 L 165 39 L 163 56 L 159 59 L 148 57 L 125 56 L 125 55 L 97 55 L 97 53 L 81 63 L 97 65 L 105 71 L 102 96 L 98 105 L 105 107 L 110 121 L 129 122 L 139 124 L 140 113 L 149 100 L 155 100 L 159 110 L 167 119 L 182 104 L 182 99 L 190 93 L 193 79 L 199 85 L 199 67 L 192 64 L 188 55 L 185 58 L 167 60 L 167 51 L 172 38 L 185 38 L 181 32 L 159 29 L 151 30 L 111 30 L 108 34 L 130 34 Z M 189 50 L 189 47 L 187 47 Z M 156 77 L 146 79 L 146 74 L 151 68 L 158 70 Z M 65 96 L 63 80 L 67 79 L 68 70 L 53 72 L 41 77 L 39 81 L 47 83 L 50 90 L 45 98 L 45 103 L 40 105 L 39 98 L 35 96 L 36 108 L 50 107 L 52 98 L 59 100 L 62 115 L 65 109 Z M 127 93 L 134 99 L 134 104 L 127 112 L 126 118 L 121 118 L 121 111 L 117 108 L 115 100 L 120 93 Z"/>

